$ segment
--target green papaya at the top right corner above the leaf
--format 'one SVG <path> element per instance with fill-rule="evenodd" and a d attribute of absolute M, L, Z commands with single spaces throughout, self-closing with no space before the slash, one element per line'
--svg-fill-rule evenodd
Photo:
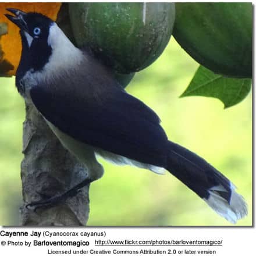
<path fill-rule="evenodd" d="M 176 3 L 173 36 L 213 72 L 251 78 L 252 26 L 251 3 Z"/>

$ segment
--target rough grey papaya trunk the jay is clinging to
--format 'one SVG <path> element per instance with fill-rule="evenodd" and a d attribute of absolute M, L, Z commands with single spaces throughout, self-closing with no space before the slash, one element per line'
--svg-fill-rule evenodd
<path fill-rule="evenodd" d="M 66 24 L 68 29 L 66 4 L 62 5 L 59 17 L 59 25 Z M 86 225 L 89 212 L 88 186 L 62 205 L 50 209 L 40 208 L 37 212 L 26 208 L 26 204 L 41 200 L 40 194 L 62 194 L 86 177 L 86 168 L 62 147 L 40 113 L 29 103 L 26 103 L 26 120 L 23 124 L 23 154 L 21 176 L 24 204 L 20 208 L 21 224 Z"/>

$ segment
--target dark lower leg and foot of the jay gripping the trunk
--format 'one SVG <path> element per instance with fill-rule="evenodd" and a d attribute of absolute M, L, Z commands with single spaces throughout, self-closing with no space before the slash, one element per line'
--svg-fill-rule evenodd
<path fill-rule="evenodd" d="M 62 202 L 65 202 L 67 198 L 74 197 L 80 192 L 80 189 L 82 189 L 84 186 L 87 186 L 93 182 L 91 179 L 85 179 L 83 182 L 80 182 L 76 186 L 72 187 L 72 189 L 67 190 L 65 193 L 61 195 L 55 195 L 54 197 L 49 197 L 48 199 L 40 200 L 31 202 L 30 204 L 26 205 L 26 208 L 30 209 L 32 208 L 34 211 L 37 211 L 39 208 L 51 208 L 58 204 L 61 204 Z M 38 193 L 41 194 L 41 193 Z M 47 196 L 43 196 L 44 198 L 47 198 Z"/>

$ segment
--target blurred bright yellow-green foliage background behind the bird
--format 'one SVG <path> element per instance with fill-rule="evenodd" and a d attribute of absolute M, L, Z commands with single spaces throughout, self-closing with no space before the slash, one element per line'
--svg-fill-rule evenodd
<path fill-rule="evenodd" d="M 170 40 L 161 57 L 136 74 L 127 87 L 158 113 L 170 140 L 212 163 L 239 188 L 252 225 L 252 100 L 223 109 L 214 98 L 185 97 L 198 64 Z M 0 79 L 0 224 L 19 224 L 22 189 L 24 103 L 15 79 Z M 230 225 L 175 177 L 104 164 L 105 175 L 91 184 L 88 225 Z"/>

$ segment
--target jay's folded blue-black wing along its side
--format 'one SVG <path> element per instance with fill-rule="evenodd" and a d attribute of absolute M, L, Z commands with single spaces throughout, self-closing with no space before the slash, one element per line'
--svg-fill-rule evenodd
<path fill-rule="evenodd" d="M 66 90 L 65 90 L 66 89 Z M 31 99 L 42 115 L 76 140 L 124 157 L 166 166 L 168 139 L 159 118 L 137 98 L 118 87 L 90 95 L 69 86 L 36 86 Z"/>

